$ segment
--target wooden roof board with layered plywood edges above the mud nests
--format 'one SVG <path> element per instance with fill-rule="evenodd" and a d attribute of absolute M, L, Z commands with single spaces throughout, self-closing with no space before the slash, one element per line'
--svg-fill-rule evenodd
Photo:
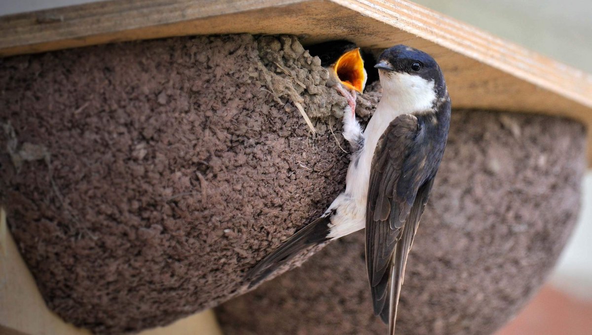
<path fill-rule="evenodd" d="M 403 0 L 98 2 L 0 18 L 0 56 L 226 33 L 296 34 L 304 43 L 348 38 L 376 48 L 408 44 L 440 63 L 455 108 L 538 112 L 592 127 L 591 75 Z"/>

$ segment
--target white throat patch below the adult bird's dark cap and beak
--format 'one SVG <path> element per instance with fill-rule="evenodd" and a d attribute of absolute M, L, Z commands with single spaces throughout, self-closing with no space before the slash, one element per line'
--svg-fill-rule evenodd
<path fill-rule="evenodd" d="M 379 71 L 382 85 L 380 104 L 397 110 L 397 114 L 431 111 L 436 101 L 434 80 L 409 73 Z M 386 107 L 385 106 L 385 107 Z"/>

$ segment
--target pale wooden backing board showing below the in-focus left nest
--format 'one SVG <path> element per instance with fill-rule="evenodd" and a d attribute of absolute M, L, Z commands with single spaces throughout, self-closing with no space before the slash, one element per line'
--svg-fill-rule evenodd
<path fill-rule="evenodd" d="M 47 308 L 33 276 L 18 253 L 0 207 L 0 334 L 90 335 L 88 330 L 65 323 Z M 166 327 L 137 335 L 222 335 L 211 310 L 175 321 Z"/>

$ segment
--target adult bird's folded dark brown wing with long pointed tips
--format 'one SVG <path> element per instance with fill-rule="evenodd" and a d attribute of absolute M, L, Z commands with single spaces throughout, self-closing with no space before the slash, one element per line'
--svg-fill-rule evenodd
<path fill-rule="evenodd" d="M 366 204 L 366 266 L 374 312 L 394 331 L 407 255 L 433 183 L 416 117 L 400 115 L 378 141 Z M 388 301 L 388 303 L 387 303 Z M 392 334 L 392 333 L 391 333 Z"/>

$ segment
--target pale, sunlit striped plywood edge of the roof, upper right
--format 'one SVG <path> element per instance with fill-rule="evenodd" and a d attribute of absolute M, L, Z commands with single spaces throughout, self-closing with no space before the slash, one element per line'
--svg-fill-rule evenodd
<path fill-rule="evenodd" d="M 332 1 L 592 108 L 592 75 L 583 70 L 410 1 Z"/>

